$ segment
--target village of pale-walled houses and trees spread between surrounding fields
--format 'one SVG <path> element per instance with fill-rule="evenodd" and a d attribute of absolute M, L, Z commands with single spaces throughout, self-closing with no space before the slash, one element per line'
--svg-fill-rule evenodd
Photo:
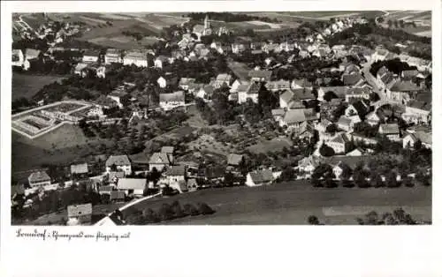
<path fill-rule="evenodd" d="M 24 32 L 50 42 L 13 49 L 14 71 L 69 60 L 69 78 L 17 105 L 12 131 L 32 140 L 69 124 L 114 145 L 11 183 L 12 217 L 67 211 L 66 225 L 141 224 L 217 213 L 175 198 L 220 187 L 430 186 L 431 60 L 329 44 L 377 20 L 333 19 L 298 39 L 259 41 L 212 27 L 206 15 L 171 29 L 173 41 L 156 49 L 126 51 L 60 47 L 82 31 L 59 22 Z M 133 210 L 151 198 L 173 203 L 156 216 Z"/>

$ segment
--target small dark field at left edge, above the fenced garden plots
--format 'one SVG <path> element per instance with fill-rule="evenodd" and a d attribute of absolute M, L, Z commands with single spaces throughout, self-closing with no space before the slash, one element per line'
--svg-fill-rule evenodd
<path fill-rule="evenodd" d="M 31 99 L 43 86 L 64 79 L 52 75 L 27 75 L 12 73 L 12 101 L 25 97 Z"/>

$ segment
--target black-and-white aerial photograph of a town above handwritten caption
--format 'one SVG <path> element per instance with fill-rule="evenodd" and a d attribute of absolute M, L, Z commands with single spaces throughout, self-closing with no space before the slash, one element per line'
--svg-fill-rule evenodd
<path fill-rule="evenodd" d="M 432 224 L 431 11 L 11 20 L 11 225 Z"/>

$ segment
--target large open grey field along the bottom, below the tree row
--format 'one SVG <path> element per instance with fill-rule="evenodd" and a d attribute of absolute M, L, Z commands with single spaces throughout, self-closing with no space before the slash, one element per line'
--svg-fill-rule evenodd
<path fill-rule="evenodd" d="M 255 188 L 210 189 L 148 199 L 124 213 L 131 213 L 134 208 L 157 210 L 164 203 L 171 204 L 175 200 L 181 205 L 205 202 L 217 213 L 168 224 L 307 224 L 312 214 L 325 224 L 356 224 L 356 217 L 372 210 L 384 213 L 397 207 L 404 208 L 416 220 L 431 221 L 431 188 L 318 189 L 305 181 Z"/>

